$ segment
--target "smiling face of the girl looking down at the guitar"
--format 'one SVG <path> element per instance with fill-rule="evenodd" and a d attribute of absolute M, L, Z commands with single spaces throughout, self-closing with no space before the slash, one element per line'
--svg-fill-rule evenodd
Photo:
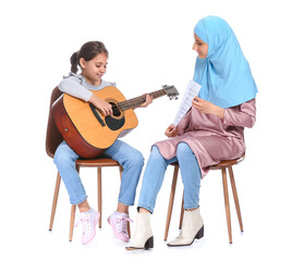
<path fill-rule="evenodd" d="M 82 75 L 86 82 L 92 85 L 100 85 L 101 77 L 107 72 L 108 57 L 105 53 L 99 53 L 89 61 L 80 59 L 82 66 Z"/>

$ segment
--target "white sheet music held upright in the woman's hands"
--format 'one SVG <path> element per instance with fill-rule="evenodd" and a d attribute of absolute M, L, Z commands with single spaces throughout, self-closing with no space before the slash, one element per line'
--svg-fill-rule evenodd
<path fill-rule="evenodd" d="M 179 122 L 182 120 L 182 117 L 186 114 L 186 112 L 191 108 L 192 100 L 195 96 L 198 95 L 199 89 L 200 89 L 199 84 L 195 83 L 193 79 L 189 82 L 185 94 L 183 96 L 183 99 L 181 101 L 180 108 L 178 110 L 177 116 L 173 122 L 175 126 L 179 124 Z"/>

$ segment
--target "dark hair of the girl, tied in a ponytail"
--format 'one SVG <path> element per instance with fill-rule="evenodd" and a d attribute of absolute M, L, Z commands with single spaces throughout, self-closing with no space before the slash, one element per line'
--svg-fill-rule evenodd
<path fill-rule="evenodd" d="M 101 41 L 88 41 L 84 44 L 81 50 L 74 52 L 70 58 L 71 62 L 71 72 L 77 73 L 80 64 L 80 59 L 83 58 L 85 61 L 89 61 L 94 59 L 97 54 L 105 53 L 107 57 L 109 55 L 108 50 Z"/>

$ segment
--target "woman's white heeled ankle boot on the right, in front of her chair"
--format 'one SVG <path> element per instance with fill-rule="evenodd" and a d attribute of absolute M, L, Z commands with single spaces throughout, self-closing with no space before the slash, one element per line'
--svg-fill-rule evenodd
<path fill-rule="evenodd" d="M 183 226 L 180 235 L 168 243 L 169 247 L 190 246 L 194 239 L 199 239 L 204 236 L 204 221 L 199 213 L 199 208 L 184 212 Z"/>

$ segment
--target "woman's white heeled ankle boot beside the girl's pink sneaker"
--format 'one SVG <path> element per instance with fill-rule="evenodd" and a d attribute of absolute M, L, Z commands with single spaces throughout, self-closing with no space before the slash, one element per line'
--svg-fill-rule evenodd
<path fill-rule="evenodd" d="M 135 231 L 126 250 L 149 249 L 154 247 L 154 237 L 150 225 L 150 213 L 137 213 Z"/>

